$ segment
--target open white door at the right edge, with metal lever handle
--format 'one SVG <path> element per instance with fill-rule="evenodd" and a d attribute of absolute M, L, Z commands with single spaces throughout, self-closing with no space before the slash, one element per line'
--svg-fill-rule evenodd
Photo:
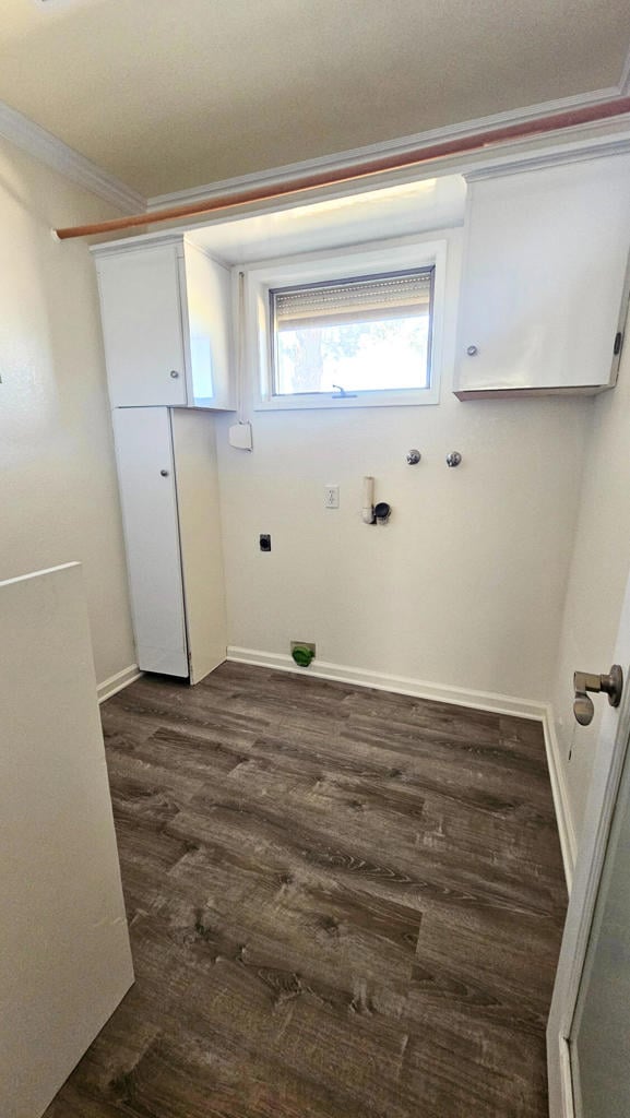
<path fill-rule="evenodd" d="M 547 1027 L 551 1118 L 630 1114 L 630 581 L 612 659 L 624 693 L 602 719 L 564 929 Z"/>

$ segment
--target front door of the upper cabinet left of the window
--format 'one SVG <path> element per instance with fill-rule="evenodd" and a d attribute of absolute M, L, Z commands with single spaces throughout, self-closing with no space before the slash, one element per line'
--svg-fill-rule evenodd
<path fill-rule="evenodd" d="M 97 260 L 112 407 L 187 402 L 175 245 Z"/>

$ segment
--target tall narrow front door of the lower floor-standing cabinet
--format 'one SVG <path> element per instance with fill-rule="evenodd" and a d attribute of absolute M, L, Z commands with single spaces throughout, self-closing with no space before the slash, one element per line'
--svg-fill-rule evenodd
<path fill-rule="evenodd" d="M 114 440 L 138 664 L 188 675 L 168 408 L 116 408 Z"/>

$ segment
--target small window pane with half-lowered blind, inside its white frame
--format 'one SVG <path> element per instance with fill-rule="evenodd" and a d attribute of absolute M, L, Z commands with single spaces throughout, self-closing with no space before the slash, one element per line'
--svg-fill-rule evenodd
<path fill-rule="evenodd" d="M 426 388 L 434 272 L 272 287 L 273 395 Z"/>

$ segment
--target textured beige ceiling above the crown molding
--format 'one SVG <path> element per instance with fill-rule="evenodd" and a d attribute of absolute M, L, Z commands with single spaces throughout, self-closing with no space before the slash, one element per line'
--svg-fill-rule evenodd
<path fill-rule="evenodd" d="M 614 86 L 628 0 L 1 0 L 0 98 L 145 195 Z"/>

